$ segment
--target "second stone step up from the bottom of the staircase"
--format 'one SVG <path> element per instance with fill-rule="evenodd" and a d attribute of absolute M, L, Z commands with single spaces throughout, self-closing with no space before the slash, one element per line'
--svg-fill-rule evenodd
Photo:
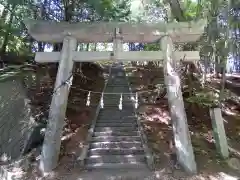
<path fill-rule="evenodd" d="M 86 159 L 87 164 L 97 163 L 144 163 L 146 157 L 144 155 L 92 155 Z"/>

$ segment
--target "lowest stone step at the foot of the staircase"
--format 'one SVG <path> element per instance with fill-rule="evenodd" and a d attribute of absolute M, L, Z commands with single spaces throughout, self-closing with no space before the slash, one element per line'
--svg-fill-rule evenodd
<path fill-rule="evenodd" d="M 146 169 L 145 163 L 97 163 L 97 164 L 86 164 L 87 169 Z"/>

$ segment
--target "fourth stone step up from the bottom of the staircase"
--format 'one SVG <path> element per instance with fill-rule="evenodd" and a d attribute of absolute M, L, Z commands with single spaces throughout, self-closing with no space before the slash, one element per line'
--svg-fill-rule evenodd
<path fill-rule="evenodd" d="M 142 148 L 141 141 L 92 142 L 90 148 Z"/>

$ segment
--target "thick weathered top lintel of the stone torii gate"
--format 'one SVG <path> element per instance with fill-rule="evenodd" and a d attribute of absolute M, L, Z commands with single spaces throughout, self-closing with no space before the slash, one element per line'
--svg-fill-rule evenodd
<path fill-rule="evenodd" d="M 116 28 L 121 31 L 123 42 L 155 42 L 164 35 L 174 42 L 194 42 L 204 31 L 206 21 L 173 23 L 127 23 L 127 22 L 49 22 L 25 20 L 29 34 L 37 41 L 62 42 L 68 34 L 82 43 L 112 42 Z"/>

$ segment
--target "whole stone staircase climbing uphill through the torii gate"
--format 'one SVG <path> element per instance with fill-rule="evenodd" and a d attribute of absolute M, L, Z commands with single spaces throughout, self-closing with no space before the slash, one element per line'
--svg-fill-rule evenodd
<path fill-rule="evenodd" d="M 93 125 L 85 167 L 146 168 L 149 162 L 148 148 L 143 143 L 144 138 L 122 67 L 112 67 L 105 92 L 129 94 L 122 95 L 122 110 L 118 107 L 120 94 L 104 95 L 104 108 L 100 109 Z"/>

